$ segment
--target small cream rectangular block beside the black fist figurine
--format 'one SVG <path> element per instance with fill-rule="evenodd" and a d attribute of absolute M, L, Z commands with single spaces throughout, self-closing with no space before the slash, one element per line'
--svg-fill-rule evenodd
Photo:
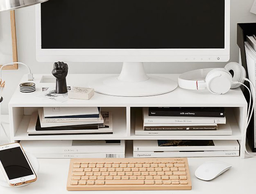
<path fill-rule="evenodd" d="M 68 98 L 89 100 L 94 95 L 93 88 L 75 87 L 73 86 L 68 92 Z"/>

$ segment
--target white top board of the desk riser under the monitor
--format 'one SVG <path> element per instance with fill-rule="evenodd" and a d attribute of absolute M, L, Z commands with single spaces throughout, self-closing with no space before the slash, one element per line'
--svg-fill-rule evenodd
<path fill-rule="evenodd" d="M 44 77 L 43 77 L 44 76 Z M 68 74 L 67 85 L 83 85 L 87 84 L 99 77 L 109 76 L 109 74 Z M 170 78 L 177 81 L 178 74 L 158 74 L 158 76 Z M 44 80 L 43 83 L 41 80 Z M 26 82 L 26 76 L 23 76 L 21 82 Z M 21 93 L 17 88 L 12 96 L 9 105 L 11 107 L 246 107 L 247 102 L 240 88 L 231 89 L 225 95 L 213 95 L 207 90 L 191 91 L 177 88 L 174 91 L 159 96 L 148 97 L 118 97 L 97 94 L 91 100 L 70 99 L 64 103 L 58 103 L 54 100 L 42 100 L 36 97 L 42 87 L 55 87 L 52 83 L 50 75 L 35 74 L 34 81 L 36 91 L 32 93 Z"/>

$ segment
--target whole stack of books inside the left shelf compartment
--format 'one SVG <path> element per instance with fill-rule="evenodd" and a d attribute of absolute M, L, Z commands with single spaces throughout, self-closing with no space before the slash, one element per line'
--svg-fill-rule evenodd
<path fill-rule="evenodd" d="M 112 114 L 99 107 L 44 107 L 31 116 L 29 136 L 113 134 Z"/>

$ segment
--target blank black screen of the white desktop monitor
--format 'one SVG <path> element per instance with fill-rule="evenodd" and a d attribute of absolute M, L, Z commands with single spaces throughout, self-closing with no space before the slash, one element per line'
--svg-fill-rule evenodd
<path fill-rule="evenodd" d="M 224 49 L 225 0 L 50 0 L 42 49 Z"/>

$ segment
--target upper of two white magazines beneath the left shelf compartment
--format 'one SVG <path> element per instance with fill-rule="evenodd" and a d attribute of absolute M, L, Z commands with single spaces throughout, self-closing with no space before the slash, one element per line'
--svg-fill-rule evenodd
<path fill-rule="evenodd" d="M 29 153 L 41 154 L 125 152 L 125 140 L 120 140 L 116 143 L 109 140 L 21 140 L 20 144 Z"/>

